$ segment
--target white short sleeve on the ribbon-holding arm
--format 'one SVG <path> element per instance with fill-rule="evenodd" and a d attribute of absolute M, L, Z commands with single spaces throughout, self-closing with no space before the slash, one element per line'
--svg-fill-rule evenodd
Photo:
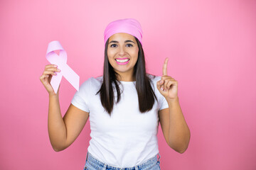
<path fill-rule="evenodd" d="M 90 112 L 89 100 L 91 88 L 91 79 L 87 79 L 80 87 L 79 91 L 75 92 L 71 103 L 73 106 L 80 108 L 82 111 Z"/>

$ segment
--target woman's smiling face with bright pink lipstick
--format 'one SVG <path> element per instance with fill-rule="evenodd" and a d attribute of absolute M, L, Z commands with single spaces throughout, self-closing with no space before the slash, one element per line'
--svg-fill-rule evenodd
<path fill-rule="evenodd" d="M 133 35 L 116 33 L 109 39 L 107 57 L 114 71 L 130 77 L 138 60 L 139 47 Z"/>

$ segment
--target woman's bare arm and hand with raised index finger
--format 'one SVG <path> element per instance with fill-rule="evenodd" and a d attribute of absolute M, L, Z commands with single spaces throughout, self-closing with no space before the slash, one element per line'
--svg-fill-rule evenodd
<path fill-rule="evenodd" d="M 163 76 L 160 81 L 157 81 L 156 85 L 159 92 L 166 98 L 169 108 L 159 111 L 159 117 L 167 144 L 176 152 L 182 154 L 188 148 L 191 133 L 178 101 L 178 81 L 167 75 L 168 60 L 168 57 L 166 57 Z"/>

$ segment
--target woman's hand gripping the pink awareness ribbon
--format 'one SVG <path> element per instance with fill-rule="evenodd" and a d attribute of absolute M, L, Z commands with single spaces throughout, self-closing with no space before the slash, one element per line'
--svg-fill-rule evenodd
<path fill-rule="evenodd" d="M 53 90 L 53 87 L 50 85 L 50 80 L 52 79 L 53 76 L 56 75 L 55 72 L 60 72 L 60 69 L 58 69 L 57 67 L 58 66 L 55 64 L 46 65 L 46 68 L 40 77 L 40 80 L 41 80 L 43 86 L 45 86 L 49 95 L 55 95 L 55 91 Z"/>

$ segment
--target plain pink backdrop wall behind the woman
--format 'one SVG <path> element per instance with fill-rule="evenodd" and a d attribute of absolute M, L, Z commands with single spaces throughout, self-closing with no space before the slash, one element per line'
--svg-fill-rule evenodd
<path fill-rule="evenodd" d="M 102 74 L 107 23 L 137 18 L 147 72 L 178 81 L 191 141 L 168 147 L 159 128 L 161 169 L 256 169 L 256 1 L 0 1 L 0 169 L 82 169 L 87 122 L 77 140 L 54 152 L 48 93 L 39 77 L 48 42 L 59 40 L 80 84 Z M 75 89 L 60 85 L 65 114 Z"/>

